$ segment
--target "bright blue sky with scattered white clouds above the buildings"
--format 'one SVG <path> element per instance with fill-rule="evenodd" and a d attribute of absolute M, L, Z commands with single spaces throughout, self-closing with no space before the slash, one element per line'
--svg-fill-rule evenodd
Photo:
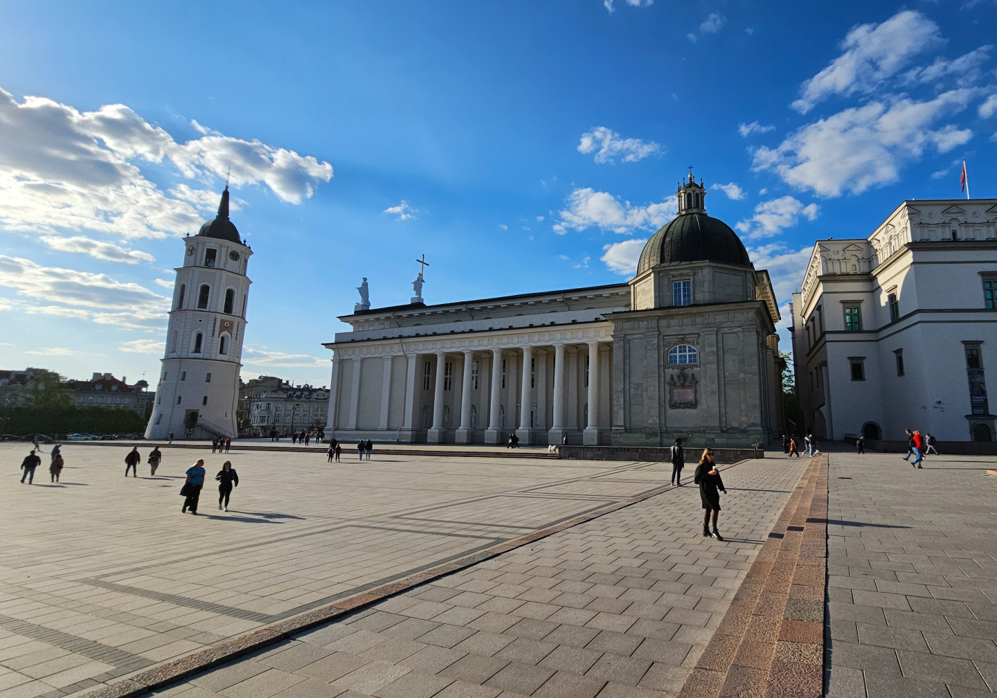
<path fill-rule="evenodd" d="M 625 281 L 689 165 L 780 301 L 814 240 L 993 196 L 993 0 L 19 3 L 0 367 L 155 375 L 178 237 L 253 247 L 243 376 L 328 382 L 376 306 Z M 997 42 L 995 42 L 997 43 Z M 787 319 L 781 323 L 785 327 Z"/>

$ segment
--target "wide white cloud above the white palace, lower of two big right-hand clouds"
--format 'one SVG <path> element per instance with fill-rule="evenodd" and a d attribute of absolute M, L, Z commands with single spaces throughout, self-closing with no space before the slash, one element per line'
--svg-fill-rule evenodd
<path fill-rule="evenodd" d="M 904 98 L 846 109 L 798 129 L 776 149 L 758 149 L 753 169 L 775 172 L 792 186 L 823 196 L 891 184 L 926 148 L 945 153 L 972 138 L 971 131 L 951 125 L 932 127 L 963 111 L 975 94 L 963 88 L 927 102 Z"/>

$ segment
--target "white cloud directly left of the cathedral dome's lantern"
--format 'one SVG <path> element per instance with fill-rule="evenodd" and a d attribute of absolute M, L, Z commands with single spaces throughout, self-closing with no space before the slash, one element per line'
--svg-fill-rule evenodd
<path fill-rule="evenodd" d="M 560 211 L 560 220 L 554 223 L 553 230 L 562 235 L 569 229 L 584 230 L 589 227 L 620 233 L 634 228 L 659 227 L 675 215 L 677 206 L 674 195 L 661 203 L 639 206 L 605 191 L 596 191 L 591 187 L 576 188 L 568 195 L 566 208 Z"/>

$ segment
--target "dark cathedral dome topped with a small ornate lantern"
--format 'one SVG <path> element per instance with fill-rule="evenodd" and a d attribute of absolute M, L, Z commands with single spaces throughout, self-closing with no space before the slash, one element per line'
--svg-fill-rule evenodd
<path fill-rule="evenodd" d="M 679 214 L 651 235 L 640 253 L 637 273 L 658 264 L 715 261 L 752 266 L 748 250 L 731 226 L 706 214 L 706 189 L 689 175 L 679 186 Z"/>

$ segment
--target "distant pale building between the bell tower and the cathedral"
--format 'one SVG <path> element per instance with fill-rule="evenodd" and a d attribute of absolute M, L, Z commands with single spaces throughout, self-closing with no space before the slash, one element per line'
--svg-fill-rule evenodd
<path fill-rule="evenodd" d="M 289 431 L 324 429 L 329 410 L 325 386 L 295 386 L 274 376 L 260 376 L 239 387 L 239 414 L 247 416 L 242 432 L 266 436 L 271 429 Z"/>

